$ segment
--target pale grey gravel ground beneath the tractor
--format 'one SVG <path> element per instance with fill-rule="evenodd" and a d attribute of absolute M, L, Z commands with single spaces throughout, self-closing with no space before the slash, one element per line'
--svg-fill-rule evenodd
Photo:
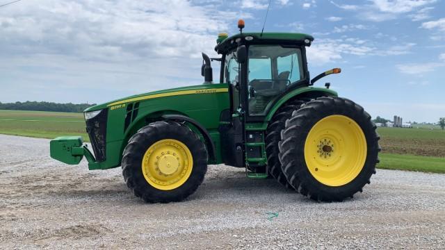
<path fill-rule="evenodd" d="M 317 203 L 212 165 L 186 201 L 145 204 L 120 168 L 60 164 L 49 140 L 0 135 L 0 156 L 0 249 L 445 249 L 444 174 L 378 169 Z"/>

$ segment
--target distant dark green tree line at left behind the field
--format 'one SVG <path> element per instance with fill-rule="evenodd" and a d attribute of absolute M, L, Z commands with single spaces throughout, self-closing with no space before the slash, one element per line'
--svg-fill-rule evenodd
<path fill-rule="evenodd" d="M 53 111 L 53 112 L 70 112 L 81 113 L 86 108 L 95 106 L 96 104 L 88 103 L 53 103 L 47 101 L 16 101 L 15 103 L 1 103 L 0 110 L 31 110 L 31 111 Z"/>

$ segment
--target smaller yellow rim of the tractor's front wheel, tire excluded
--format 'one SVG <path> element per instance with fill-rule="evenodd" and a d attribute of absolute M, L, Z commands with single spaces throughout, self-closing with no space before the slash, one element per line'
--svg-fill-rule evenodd
<path fill-rule="evenodd" d="M 150 146 L 142 160 L 145 180 L 159 190 L 172 190 L 184 184 L 193 168 L 190 149 L 179 140 L 160 140 Z"/>

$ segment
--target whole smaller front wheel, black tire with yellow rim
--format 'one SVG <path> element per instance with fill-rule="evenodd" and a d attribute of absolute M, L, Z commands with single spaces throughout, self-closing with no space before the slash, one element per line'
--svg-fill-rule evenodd
<path fill-rule="evenodd" d="M 145 202 L 181 201 L 204 180 L 207 157 L 204 143 L 187 126 L 154 122 L 130 138 L 122 174 L 128 188 Z"/>

